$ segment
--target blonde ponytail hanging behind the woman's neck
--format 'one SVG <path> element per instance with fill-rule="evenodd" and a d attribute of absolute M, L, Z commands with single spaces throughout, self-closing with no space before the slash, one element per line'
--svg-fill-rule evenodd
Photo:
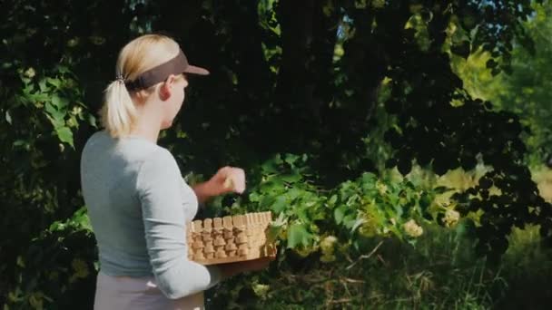
<path fill-rule="evenodd" d="M 115 80 L 105 89 L 102 124 L 113 138 L 127 135 L 136 119 L 136 107 L 124 82 Z"/>

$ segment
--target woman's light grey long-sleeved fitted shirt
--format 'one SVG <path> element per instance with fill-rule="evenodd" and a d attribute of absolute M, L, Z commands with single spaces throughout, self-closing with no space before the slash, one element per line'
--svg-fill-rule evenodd
<path fill-rule="evenodd" d="M 84 146 L 81 185 L 104 274 L 154 276 L 173 299 L 220 281 L 217 267 L 188 260 L 186 223 L 198 202 L 168 150 L 96 132 Z"/>

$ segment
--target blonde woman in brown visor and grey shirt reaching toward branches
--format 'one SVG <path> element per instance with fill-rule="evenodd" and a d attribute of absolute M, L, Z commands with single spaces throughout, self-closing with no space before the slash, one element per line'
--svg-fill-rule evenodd
<path fill-rule="evenodd" d="M 232 167 L 191 189 L 173 155 L 157 145 L 182 107 L 186 74 L 208 73 L 163 35 L 138 37 L 119 53 L 101 112 L 105 130 L 86 142 L 81 159 L 100 260 L 94 309 L 201 309 L 203 290 L 269 263 L 202 266 L 187 259 L 185 225 L 198 202 L 245 189 L 243 170 Z"/>

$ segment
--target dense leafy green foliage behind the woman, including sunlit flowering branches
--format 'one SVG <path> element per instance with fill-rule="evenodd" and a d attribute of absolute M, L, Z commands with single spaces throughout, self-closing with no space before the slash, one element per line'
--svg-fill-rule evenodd
<path fill-rule="evenodd" d="M 160 144 L 191 183 L 226 164 L 249 173 L 245 195 L 214 199 L 200 216 L 271 209 L 278 218 L 271 237 L 280 256 L 261 277 L 297 284 L 294 274 L 316 278 L 320 264 L 330 266 L 324 272 L 361 272 L 377 266 L 364 264 L 378 250 L 375 240 L 409 251 L 436 223 L 476 238 L 478 255 L 492 259 L 507 251 L 514 227 L 539 225 L 549 238 L 552 209 L 525 160 L 524 117 L 533 110 L 520 119 L 512 106 L 519 99 L 474 97 L 462 80 L 468 74 L 455 66 L 486 53 L 481 72 L 521 74 L 508 79 L 527 87 L 521 81 L 530 72 L 518 68 L 524 61 L 517 55 L 547 45 L 532 35 L 531 27 L 543 28 L 531 23 L 548 14 L 548 3 L 537 3 L 2 2 L 0 304 L 90 305 L 97 254 L 79 155 L 98 130 L 116 53 L 152 31 L 171 34 L 192 63 L 212 72 L 192 80 Z M 530 93 L 537 93 L 534 104 L 546 102 L 544 91 Z M 533 127 L 543 131 L 538 137 L 549 133 L 546 123 Z M 536 143 L 546 147 L 547 140 Z M 432 178 L 482 172 L 468 188 L 448 189 L 412 178 L 413 167 Z M 349 268 L 354 261 L 363 263 Z M 228 289 L 210 303 L 245 303 L 241 295 L 251 290 L 263 295 L 261 280 L 245 287 L 248 279 L 237 278 L 242 286 L 222 286 Z M 312 297 L 297 304 L 305 298 Z"/>

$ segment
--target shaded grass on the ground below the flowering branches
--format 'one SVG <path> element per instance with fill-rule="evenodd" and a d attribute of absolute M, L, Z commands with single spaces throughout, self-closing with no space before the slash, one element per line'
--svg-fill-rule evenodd
<path fill-rule="evenodd" d="M 540 247 L 537 228 L 516 230 L 498 265 L 473 255 L 465 232 L 426 227 L 416 247 L 370 240 L 374 255 L 354 267 L 315 260 L 282 265 L 257 280 L 265 295 L 236 295 L 247 309 L 544 309 L 552 305 L 552 253 Z M 383 242 L 382 242 L 383 241 Z M 235 284 L 218 290 L 232 290 Z M 222 298 L 222 295 L 219 296 Z M 215 296 L 216 299 L 216 296 Z M 214 300 L 211 308 L 218 308 Z M 222 304 L 218 304 L 222 305 Z M 232 307 L 229 307 L 232 308 Z"/>

